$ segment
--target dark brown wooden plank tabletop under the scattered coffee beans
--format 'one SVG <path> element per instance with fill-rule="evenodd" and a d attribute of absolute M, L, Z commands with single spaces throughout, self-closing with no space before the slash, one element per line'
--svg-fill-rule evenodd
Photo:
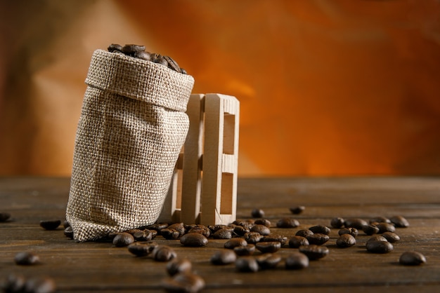
<path fill-rule="evenodd" d="M 10 222 L 0 223 L 1 284 L 9 273 L 20 273 L 53 278 L 57 292 L 161 292 L 166 264 L 134 257 L 127 247 L 111 243 L 76 243 L 62 228 L 40 228 L 41 219 L 65 219 L 69 183 L 68 178 L 0 179 L 0 212 L 12 215 Z M 291 214 L 289 207 L 295 205 L 306 210 Z M 440 292 L 439 177 L 239 179 L 238 218 L 249 219 L 255 207 L 266 212 L 272 233 L 288 238 L 316 224 L 329 226 L 333 217 L 368 220 L 400 214 L 410 227 L 396 230 L 401 240 L 388 254 L 367 252 L 370 236 L 361 231 L 354 247 L 339 248 L 338 230 L 332 229 L 325 244 L 330 254 L 300 271 L 287 271 L 283 263 L 256 273 L 240 273 L 233 264 L 212 265 L 209 258 L 224 249 L 226 240 L 209 239 L 202 248 L 183 247 L 179 240 L 162 236 L 155 241 L 192 261 L 193 271 L 206 282 L 203 292 Z M 276 229 L 281 217 L 295 217 L 300 226 Z M 283 247 L 277 253 L 284 258 L 295 250 Z M 408 250 L 425 254 L 427 263 L 400 265 L 399 256 Z M 13 258 L 22 251 L 38 254 L 41 264 L 16 265 Z"/>

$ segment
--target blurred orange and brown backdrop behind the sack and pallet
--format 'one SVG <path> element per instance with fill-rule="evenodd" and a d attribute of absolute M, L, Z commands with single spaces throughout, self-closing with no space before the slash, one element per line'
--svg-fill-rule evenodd
<path fill-rule="evenodd" d="M 0 1 L 0 175 L 70 175 L 93 50 L 240 100 L 239 175 L 440 175 L 437 0 Z"/>

